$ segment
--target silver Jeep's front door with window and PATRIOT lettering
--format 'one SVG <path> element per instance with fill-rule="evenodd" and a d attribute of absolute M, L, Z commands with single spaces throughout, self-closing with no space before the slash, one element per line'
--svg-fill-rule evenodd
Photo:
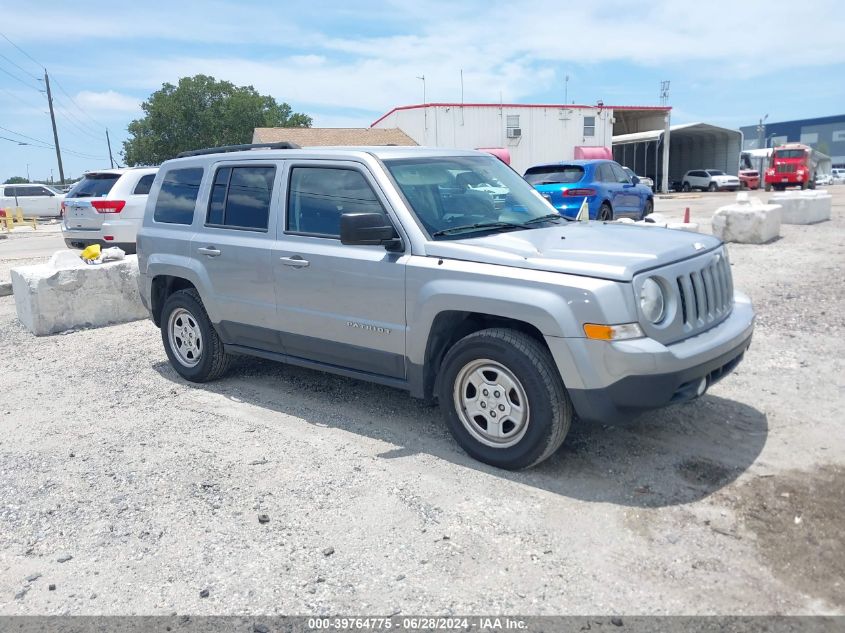
<path fill-rule="evenodd" d="M 285 353 L 405 378 L 407 256 L 340 243 L 341 214 L 389 215 L 375 181 L 354 162 L 289 161 L 285 182 L 273 253 Z"/>

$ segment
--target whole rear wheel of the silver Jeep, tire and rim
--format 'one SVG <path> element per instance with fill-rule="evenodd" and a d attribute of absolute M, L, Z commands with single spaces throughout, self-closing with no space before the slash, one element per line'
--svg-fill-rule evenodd
<path fill-rule="evenodd" d="M 164 302 L 161 339 L 173 369 L 186 380 L 214 380 L 228 367 L 223 342 L 196 290 L 179 290 Z"/>

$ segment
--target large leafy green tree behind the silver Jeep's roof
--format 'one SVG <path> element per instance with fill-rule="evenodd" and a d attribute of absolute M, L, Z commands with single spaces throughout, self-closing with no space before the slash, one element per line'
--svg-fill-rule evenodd
<path fill-rule="evenodd" d="M 129 124 L 123 142 L 127 165 L 158 165 L 179 152 L 252 142 L 256 127 L 311 127 L 311 117 L 293 112 L 252 86 L 235 86 L 207 75 L 163 84 Z"/>

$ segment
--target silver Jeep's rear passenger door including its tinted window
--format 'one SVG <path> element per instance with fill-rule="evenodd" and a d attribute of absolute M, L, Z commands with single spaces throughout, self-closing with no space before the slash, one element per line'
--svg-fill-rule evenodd
<path fill-rule="evenodd" d="M 227 343 L 281 352 L 271 252 L 281 163 L 221 161 L 213 165 L 191 257 L 204 273 L 212 319 Z M 278 213 L 273 214 L 278 215 Z"/>

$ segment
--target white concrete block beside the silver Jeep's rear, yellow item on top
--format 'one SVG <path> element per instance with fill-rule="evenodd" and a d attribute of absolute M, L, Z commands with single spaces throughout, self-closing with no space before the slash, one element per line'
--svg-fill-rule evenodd
<path fill-rule="evenodd" d="M 149 317 L 138 293 L 138 258 L 89 265 L 71 251 L 12 269 L 18 319 L 36 336 Z"/>

